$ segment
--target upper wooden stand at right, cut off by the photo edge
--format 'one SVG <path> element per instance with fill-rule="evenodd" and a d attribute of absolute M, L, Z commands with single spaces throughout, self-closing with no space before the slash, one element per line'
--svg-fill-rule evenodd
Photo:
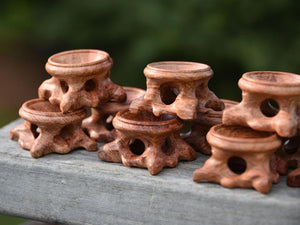
<path fill-rule="evenodd" d="M 300 76 L 274 71 L 245 73 L 239 80 L 242 102 L 226 109 L 223 123 L 249 126 L 252 129 L 277 132 L 293 137 L 300 129 Z M 277 102 L 279 109 L 270 105 Z M 269 108 L 269 110 L 266 110 Z"/>

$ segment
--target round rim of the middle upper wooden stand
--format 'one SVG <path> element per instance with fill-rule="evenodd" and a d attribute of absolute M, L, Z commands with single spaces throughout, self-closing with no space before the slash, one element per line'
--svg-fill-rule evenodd
<path fill-rule="evenodd" d="M 206 64 L 183 61 L 150 63 L 144 73 L 148 78 L 184 81 L 210 78 L 213 75 L 212 69 Z"/>

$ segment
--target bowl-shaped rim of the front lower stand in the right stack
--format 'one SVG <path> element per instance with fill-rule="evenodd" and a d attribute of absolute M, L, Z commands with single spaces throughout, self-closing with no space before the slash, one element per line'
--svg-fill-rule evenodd
<path fill-rule="evenodd" d="M 274 151 L 281 145 L 281 141 L 275 133 L 222 124 L 210 129 L 207 141 L 212 146 L 236 152 Z"/>

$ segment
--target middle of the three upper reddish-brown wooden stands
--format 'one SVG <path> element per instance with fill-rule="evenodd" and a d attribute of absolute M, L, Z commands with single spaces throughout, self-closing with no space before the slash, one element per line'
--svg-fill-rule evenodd
<path fill-rule="evenodd" d="M 196 119 L 197 113 L 221 111 L 224 104 L 208 87 L 212 69 L 202 63 L 166 61 L 150 63 L 144 70 L 147 91 L 133 101 L 132 112 L 152 111 L 155 116 L 177 115 L 183 120 Z"/>

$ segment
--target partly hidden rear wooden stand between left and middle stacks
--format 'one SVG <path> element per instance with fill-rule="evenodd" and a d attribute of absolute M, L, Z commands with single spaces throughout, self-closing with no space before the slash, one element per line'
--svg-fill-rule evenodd
<path fill-rule="evenodd" d="M 139 88 L 124 87 L 126 91 L 126 101 L 107 102 L 91 109 L 91 116 L 83 120 L 82 127 L 88 131 L 89 136 L 98 142 L 111 142 L 116 138 L 112 120 L 119 111 L 129 108 L 130 103 L 144 96 L 145 91 Z"/>

